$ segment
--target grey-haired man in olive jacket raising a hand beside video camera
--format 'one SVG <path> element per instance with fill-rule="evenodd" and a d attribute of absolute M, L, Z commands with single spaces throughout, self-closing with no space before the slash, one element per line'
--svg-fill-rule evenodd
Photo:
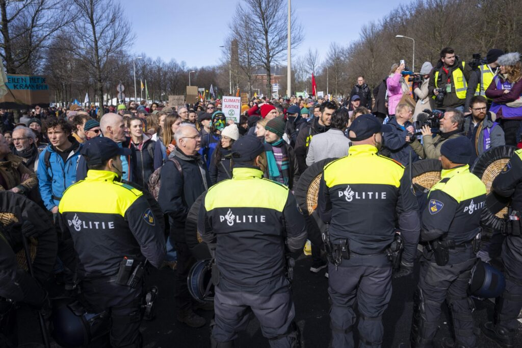
<path fill-rule="evenodd" d="M 447 109 L 444 117 L 440 120 L 440 133 L 433 136 L 431 128 L 425 125 L 421 129 L 423 145 L 415 140 L 411 143 L 411 147 L 417 153 L 422 147 L 424 151 L 423 159 L 436 160 L 441 156 L 441 147 L 446 140 L 464 136 L 463 125 L 464 114 L 458 109 Z"/>

